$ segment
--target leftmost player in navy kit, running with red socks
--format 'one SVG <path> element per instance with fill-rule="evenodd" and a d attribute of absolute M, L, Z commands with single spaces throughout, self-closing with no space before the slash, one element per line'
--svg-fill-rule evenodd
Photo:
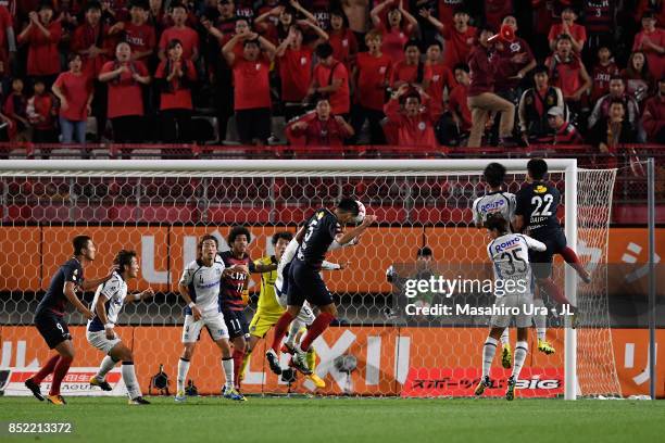
<path fill-rule="evenodd" d="M 85 280 L 84 267 L 95 261 L 97 248 L 87 236 L 76 236 L 72 241 L 74 256 L 62 265 L 53 278 L 47 293 L 39 302 L 35 313 L 35 326 L 49 345 L 55 350 L 52 356 L 37 374 L 25 381 L 25 385 L 39 400 L 45 397 L 39 389 L 39 383 L 53 372 L 53 382 L 48 395 L 48 401 L 55 405 L 64 405 L 65 401 L 60 395 L 60 385 L 67 375 L 72 360 L 74 359 L 74 344 L 72 336 L 64 320 L 65 306 L 72 303 L 76 311 L 81 313 L 86 319 L 91 320 L 95 314 L 76 296 L 76 291 L 88 291 L 97 288 L 113 276 L 112 271 L 99 279 Z"/>

